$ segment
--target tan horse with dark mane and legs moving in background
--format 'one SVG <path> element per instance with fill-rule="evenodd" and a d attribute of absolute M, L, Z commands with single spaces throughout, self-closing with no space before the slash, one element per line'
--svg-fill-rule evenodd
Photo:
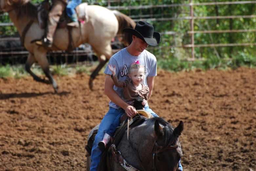
<path fill-rule="evenodd" d="M 85 3 L 78 6 L 80 11 L 79 18 L 83 17 L 80 16 L 80 14 L 85 13 L 83 12 L 85 11 L 85 7 L 88 15 L 87 22 L 81 24 L 80 28 L 72 28 L 71 35 L 74 48 L 78 47 L 82 43 L 89 43 L 100 61 L 97 68 L 91 74 L 89 80 L 89 87 L 92 89 L 93 79 L 112 56 L 112 49 L 110 46 L 111 39 L 114 38 L 117 33 L 122 33 L 123 28 L 134 28 L 135 22 L 125 14 L 118 11 L 111 11 L 105 7 L 96 5 L 86 6 Z M 56 29 L 53 38 L 53 47 L 51 49 L 47 49 L 44 46 L 38 46 L 35 43 L 31 43 L 34 40 L 41 39 L 45 34 L 45 30 L 41 29 L 38 24 L 36 6 L 27 0 L 0 0 L 0 10 L 8 12 L 10 19 L 14 26 L 17 27 L 21 38 L 24 39 L 24 47 L 29 51 L 25 65 L 26 70 L 36 81 L 47 83 L 47 80 L 36 76 L 30 70 L 31 65 L 38 62 L 46 77 L 49 78 L 49 82 L 52 84 L 55 92 L 58 92 L 58 85 L 50 73 L 46 55 L 49 50 L 68 49 L 68 29 Z M 29 26 L 28 31 L 24 35 L 23 32 L 27 29 L 26 27 L 28 27 L 28 23 L 30 22 L 31 26 Z M 131 39 L 128 37 L 128 35 L 125 35 L 123 39 L 126 46 L 131 43 Z"/>

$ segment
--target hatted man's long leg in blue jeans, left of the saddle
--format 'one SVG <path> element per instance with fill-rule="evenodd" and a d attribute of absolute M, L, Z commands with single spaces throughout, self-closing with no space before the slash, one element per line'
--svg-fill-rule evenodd
<path fill-rule="evenodd" d="M 104 130 L 110 127 L 111 123 L 114 121 L 114 119 L 118 114 L 119 114 L 119 110 L 109 107 L 107 114 L 104 116 L 104 118 L 100 123 L 98 133 L 96 134 L 95 140 L 92 145 L 90 171 L 97 171 L 98 169 L 98 165 L 100 163 L 100 160 L 103 154 L 98 144 L 100 141 L 102 141 L 104 137 L 104 134 L 105 134 Z"/>

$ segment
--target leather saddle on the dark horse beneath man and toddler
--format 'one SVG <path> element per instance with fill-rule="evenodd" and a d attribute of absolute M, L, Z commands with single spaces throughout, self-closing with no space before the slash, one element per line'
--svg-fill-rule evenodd
<path fill-rule="evenodd" d="M 151 118 L 152 115 L 150 112 L 148 111 L 145 111 L 145 110 L 137 110 L 138 112 L 138 116 L 144 116 L 146 118 Z M 105 148 L 105 151 L 103 152 L 103 156 L 102 156 L 102 159 L 100 161 L 100 164 L 99 164 L 99 167 L 98 167 L 98 170 L 100 171 L 107 171 L 107 157 L 108 157 L 108 154 L 111 152 L 115 161 L 118 163 L 122 163 L 124 162 L 124 159 L 122 158 L 121 155 L 119 155 L 119 153 L 116 153 L 115 152 L 115 148 L 113 147 L 117 147 L 118 144 L 120 143 L 125 131 L 129 128 L 128 125 L 131 125 L 132 121 L 136 121 L 138 118 L 140 117 L 134 117 L 131 122 L 129 122 L 128 124 L 128 120 L 127 120 L 127 114 L 124 113 L 121 118 L 120 118 L 120 122 L 122 123 L 122 125 L 116 130 L 115 134 L 113 137 L 111 137 L 111 141 L 108 142 L 108 145 L 107 147 Z M 98 132 L 98 128 L 99 128 L 99 125 L 97 125 L 96 127 L 94 127 L 90 133 L 89 133 L 89 136 L 88 136 L 88 142 L 87 142 L 87 145 L 85 146 L 85 149 L 87 150 L 87 154 L 85 155 L 85 157 L 89 157 L 91 156 L 91 150 L 92 150 L 92 145 L 93 145 L 93 142 L 95 140 L 95 136 Z"/>

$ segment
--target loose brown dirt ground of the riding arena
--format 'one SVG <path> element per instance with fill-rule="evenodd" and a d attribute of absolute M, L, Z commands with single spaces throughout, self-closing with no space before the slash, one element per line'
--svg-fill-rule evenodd
<path fill-rule="evenodd" d="M 104 75 L 0 79 L 0 170 L 86 170 L 84 146 L 108 111 Z M 184 171 L 256 170 L 256 70 L 158 71 L 149 106 L 176 127 Z"/>

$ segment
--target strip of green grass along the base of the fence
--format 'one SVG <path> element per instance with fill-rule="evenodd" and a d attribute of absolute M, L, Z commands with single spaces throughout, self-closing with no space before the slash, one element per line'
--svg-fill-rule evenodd
<path fill-rule="evenodd" d="M 94 62 L 92 66 L 75 66 L 67 67 L 63 65 L 53 65 L 50 67 L 50 71 L 53 75 L 66 76 L 73 74 L 86 73 L 91 75 L 91 73 L 96 69 L 99 62 Z M 238 67 L 246 66 L 250 68 L 256 68 L 256 58 L 253 55 L 248 55 L 247 53 L 239 52 L 236 56 L 232 56 L 232 60 L 224 60 L 217 57 L 209 57 L 205 61 L 181 61 L 177 58 L 161 58 L 157 59 L 158 68 L 171 71 L 171 72 L 182 72 L 195 70 L 197 68 L 207 70 L 207 69 L 218 69 L 218 70 L 230 70 L 236 69 Z M 100 70 L 99 74 L 103 74 L 105 68 L 108 67 L 108 63 Z M 44 72 L 40 67 L 31 67 L 31 71 L 37 75 L 42 76 Z M 14 77 L 16 79 L 30 76 L 25 70 L 24 66 L 10 66 L 0 65 L 0 78 Z"/>

